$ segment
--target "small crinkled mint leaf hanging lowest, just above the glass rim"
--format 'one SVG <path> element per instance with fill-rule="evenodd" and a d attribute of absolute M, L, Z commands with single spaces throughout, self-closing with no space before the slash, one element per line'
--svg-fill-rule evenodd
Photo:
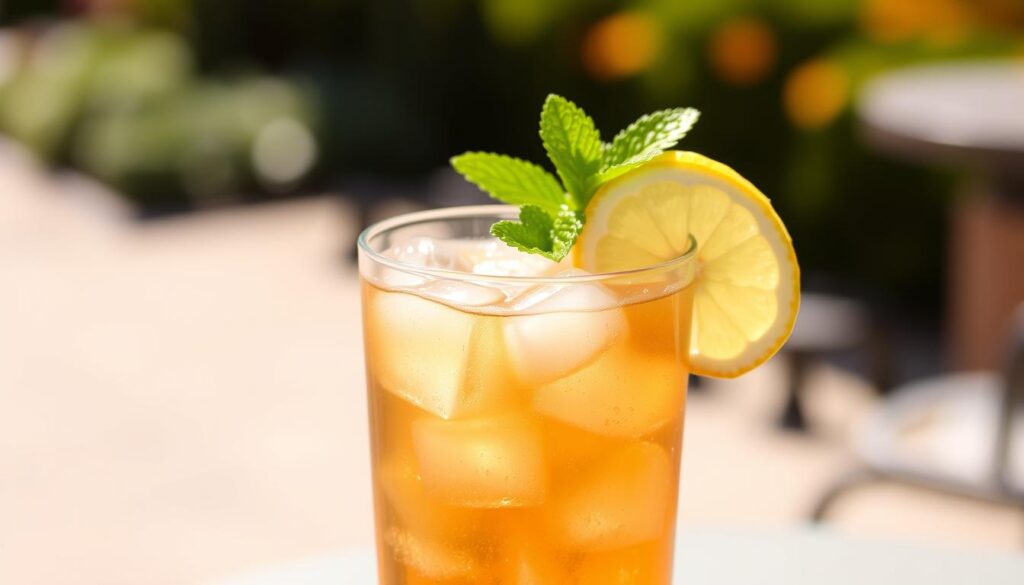
<path fill-rule="evenodd" d="M 525 205 L 519 221 L 509 219 L 490 226 L 490 235 L 509 246 L 560 261 L 572 249 L 583 229 L 583 213 L 564 208 L 554 217 L 543 209 Z"/>

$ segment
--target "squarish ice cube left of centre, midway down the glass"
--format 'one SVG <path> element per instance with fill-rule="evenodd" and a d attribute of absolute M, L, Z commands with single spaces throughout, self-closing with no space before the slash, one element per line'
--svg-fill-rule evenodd
<path fill-rule="evenodd" d="M 420 420 L 413 447 L 427 493 L 451 504 L 499 508 L 544 502 L 547 477 L 540 423 L 510 414 Z"/>

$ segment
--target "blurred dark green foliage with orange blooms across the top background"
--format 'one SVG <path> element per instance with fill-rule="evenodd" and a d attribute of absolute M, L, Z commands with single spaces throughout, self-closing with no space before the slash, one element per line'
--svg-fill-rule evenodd
<path fill-rule="evenodd" d="M 0 79 L 0 128 L 146 208 L 353 173 L 423 176 L 467 150 L 541 161 L 536 116 L 549 92 L 601 128 L 693 106 L 703 117 L 682 148 L 761 186 L 805 269 L 933 302 L 953 177 L 866 152 L 852 106 L 891 68 L 1024 52 L 1017 0 L 22 0 L 2 9 L 28 56 Z M 254 168 L 254 149 L 278 119 L 308 129 L 316 164 L 274 183 Z"/>

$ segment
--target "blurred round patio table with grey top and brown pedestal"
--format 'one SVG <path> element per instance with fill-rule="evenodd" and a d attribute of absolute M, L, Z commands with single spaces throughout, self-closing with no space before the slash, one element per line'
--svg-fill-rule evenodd
<path fill-rule="evenodd" d="M 860 96 L 879 152 L 969 171 L 952 209 L 949 356 L 998 366 L 1006 324 L 1024 300 L 1024 62 L 964 61 L 877 78 Z"/>

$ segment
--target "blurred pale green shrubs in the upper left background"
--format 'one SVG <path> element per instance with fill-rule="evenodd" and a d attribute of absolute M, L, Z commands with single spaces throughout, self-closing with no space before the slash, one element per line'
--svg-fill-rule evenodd
<path fill-rule="evenodd" d="M 47 27 L 0 87 L 5 133 L 105 180 L 146 213 L 289 186 L 261 176 L 253 144 L 275 120 L 312 127 L 313 118 L 300 86 L 199 78 L 179 35 L 121 24 Z"/>

